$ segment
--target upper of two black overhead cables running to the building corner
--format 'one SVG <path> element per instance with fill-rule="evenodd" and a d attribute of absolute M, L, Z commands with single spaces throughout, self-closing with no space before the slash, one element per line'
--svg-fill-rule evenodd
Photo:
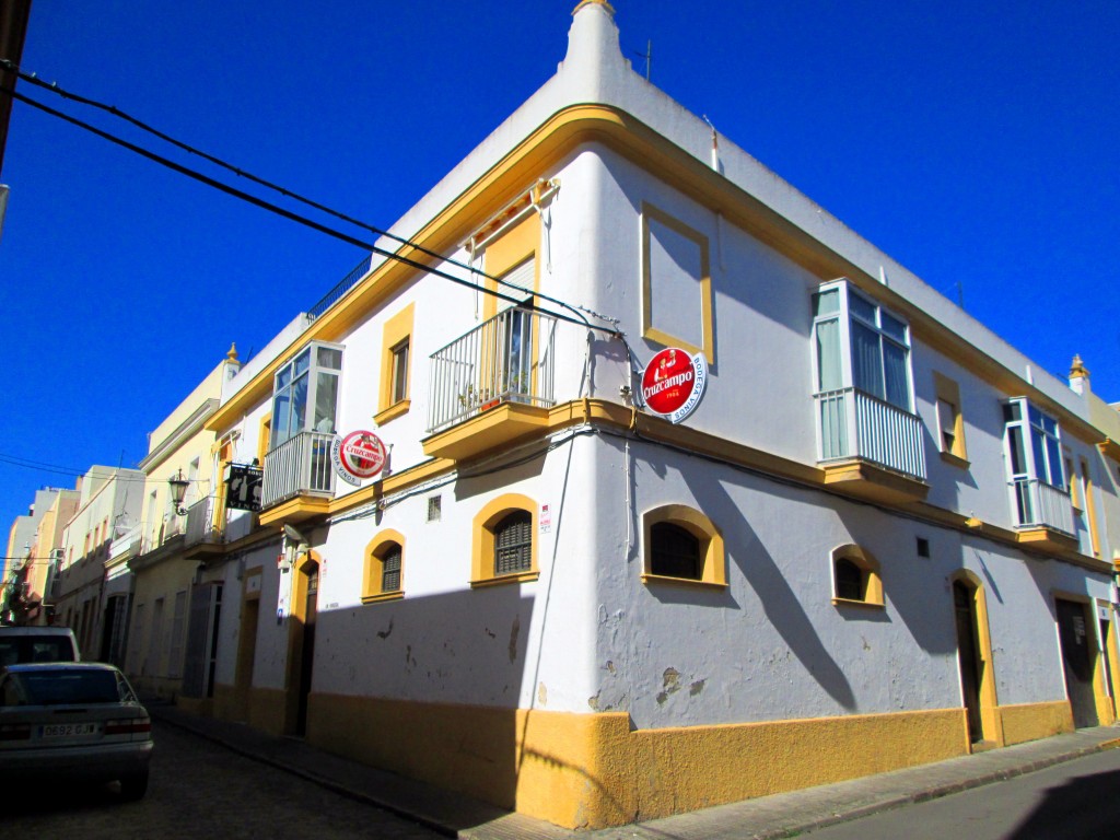
<path fill-rule="evenodd" d="M 223 169 L 227 169 L 228 171 L 233 172 L 234 175 L 236 175 L 240 178 L 246 178 L 246 179 L 253 181 L 254 184 L 259 184 L 262 187 L 265 187 L 268 189 L 272 189 L 272 190 L 274 190 L 277 193 L 280 193 L 280 195 L 282 195 L 284 197 L 292 198 L 292 199 L 295 199 L 297 202 L 300 202 L 301 204 L 306 204 L 309 207 L 314 207 L 315 209 L 320 211 L 323 213 L 326 213 L 326 214 L 328 214 L 330 216 L 334 216 L 334 217 L 336 217 L 338 220 L 342 220 L 344 222 L 353 224 L 353 225 L 355 225 L 357 227 L 362 227 L 363 230 L 370 231 L 371 233 L 374 233 L 374 234 L 376 234 L 379 236 L 384 236 L 384 237 L 393 240 L 394 242 L 398 242 L 398 243 L 400 243 L 402 245 L 408 245 L 409 248 L 411 248 L 411 249 L 413 249 L 416 251 L 419 251 L 420 253 L 422 253 L 422 254 L 424 254 L 427 256 L 432 256 L 432 258 L 436 258 L 438 260 L 441 260 L 441 261 L 445 261 L 447 263 L 450 263 L 451 265 L 456 265 L 457 268 L 466 269 L 472 274 L 478 274 L 478 276 L 480 276 L 480 277 L 483 277 L 483 278 L 485 278 L 487 280 L 492 280 L 493 282 L 501 283 L 501 284 L 510 287 L 510 288 L 515 288 L 515 289 L 521 289 L 522 288 L 522 287 L 517 286 L 516 283 L 511 283 L 511 282 L 508 282 L 506 280 L 503 280 L 501 278 L 493 277 L 492 274 L 487 274 L 485 271 L 479 271 L 477 268 L 474 268 L 472 265 L 467 265 L 467 264 L 465 264 L 465 263 L 463 263 L 463 262 L 460 262 L 458 260 L 455 260 L 455 259 L 451 259 L 451 258 L 448 258 L 448 256 L 444 256 L 442 254 L 439 254 L 436 251 L 431 251 L 430 249 L 424 248 L 423 245 L 420 245 L 420 244 L 418 244 L 416 242 L 412 242 L 409 239 L 405 239 L 403 236 L 396 235 L 395 233 L 391 233 L 389 231 L 382 230 L 382 228 L 380 228 L 380 227 L 377 227 L 375 225 L 370 224 L 368 222 L 363 222 L 363 221 L 361 221 L 358 218 L 355 218 L 353 216 L 348 216 L 345 213 L 340 213 L 340 212 L 338 212 L 336 209 L 333 209 L 333 208 L 330 208 L 330 207 L 328 207 L 328 206 L 326 206 L 324 204 L 320 204 L 319 202 L 316 202 L 316 200 L 312 200 L 310 198 L 307 198 L 306 196 L 302 196 L 302 195 L 300 195 L 298 193 L 293 193 L 290 189 L 287 189 L 286 187 L 281 187 L 278 184 L 273 184 L 273 183 L 271 183 L 269 180 L 260 178 L 260 177 L 253 175 L 252 172 L 249 172 L 249 171 L 246 171 L 246 170 L 244 170 L 244 169 L 242 169 L 240 167 L 233 166 L 232 164 L 228 164 L 225 160 L 222 160 L 221 158 L 217 158 L 217 157 L 215 157 L 215 156 L 213 156 L 213 155 L 211 155 L 208 152 L 202 151 L 200 149 L 196 149 L 193 146 L 189 146 L 188 143 L 185 143 L 185 142 L 183 142 L 180 140 L 176 140 L 170 134 L 166 134 L 162 131 L 159 131 L 158 129 L 152 128 L 151 125 L 148 125 L 147 123 L 144 123 L 141 120 L 138 120 L 137 118 L 132 116 L 131 114 L 129 114 L 129 113 L 127 113 L 124 111 L 121 111 L 115 105 L 106 105 L 103 102 L 97 102 L 96 100 L 92 100 L 92 99 L 88 99 L 86 96 L 82 96 L 80 94 L 72 93 L 72 92 L 65 90 L 64 87 L 59 86 L 57 82 L 53 82 L 50 84 L 47 84 L 43 80 L 38 78 L 34 73 L 32 74 L 25 73 L 16 64 L 13 64 L 12 62 L 10 62 L 10 60 L 8 60 L 6 58 L 0 58 L 0 67 L 4 67 L 6 69 L 15 73 L 19 78 L 24 80 L 25 82 L 28 82 L 29 84 L 36 85 L 36 86 L 41 87 L 44 90 L 50 91 L 52 93 L 55 93 L 55 94 L 62 96 L 63 99 L 72 100 L 72 101 L 78 102 L 78 103 L 81 103 L 83 105 L 88 105 L 91 108 L 95 108 L 95 109 L 100 109 L 102 111 L 105 111 L 106 113 L 110 113 L 113 116 L 116 116 L 118 119 L 124 120 L 125 122 L 129 122 L 132 125 L 136 125 L 141 131 L 146 131 L 149 134 L 152 134 L 153 137 L 157 137 L 160 140 L 164 140 L 165 142 L 170 143 L 171 146 L 175 146 L 176 148 L 183 149 L 188 155 L 195 155 L 197 157 L 203 158 L 204 160 L 208 160 L 209 162 L 214 164 L 215 166 L 222 167 Z M 544 295 L 544 293 L 541 293 L 541 292 L 533 292 L 533 295 L 535 297 L 540 298 L 541 300 L 547 300 L 550 304 L 554 304 L 556 306 L 560 306 L 560 307 L 563 307 L 564 309 L 568 309 L 568 310 L 570 310 L 572 312 L 576 312 L 580 317 L 580 319 L 582 320 L 584 325 L 588 326 L 588 327 L 591 327 L 592 325 L 590 324 L 590 321 L 587 320 L 587 318 L 584 318 L 584 316 L 581 315 L 581 312 L 584 312 L 584 311 L 586 311 L 586 312 L 588 312 L 588 314 L 590 314 L 590 315 L 592 315 L 592 316 L 595 316 L 597 318 L 600 318 L 601 320 L 608 321 L 608 323 L 614 323 L 614 324 L 618 323 L 616 318 L 608 318 L 608 317 L 599 315 L 598 312 L 595 312 L 595 311 L 592 311 L 590 309 L 587 309 L 586 307 L 572 306 L 570 304 L 567 304 L 563 300 L 560 300 L 559 298 L 553 298 L 553 297 L 551 297 L 549 295 Z M 608 330 L 608 332 L 615 332 L 615 330 Z"/>

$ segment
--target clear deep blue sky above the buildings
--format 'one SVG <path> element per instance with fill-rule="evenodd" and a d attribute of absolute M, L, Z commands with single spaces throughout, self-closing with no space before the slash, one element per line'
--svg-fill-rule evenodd
<path fill-rule="evenodd" d="M 22 66 L 388 227 L 554 72 L 575 4 L 35 0 Z M 1120 3 L 615 6 L 657 86 L 1120 400 Z M 363 256 L 21 103 L 2 180 L 3 533 L 37 487 L 139 461 L 231 342 L 263 347 Z"/>

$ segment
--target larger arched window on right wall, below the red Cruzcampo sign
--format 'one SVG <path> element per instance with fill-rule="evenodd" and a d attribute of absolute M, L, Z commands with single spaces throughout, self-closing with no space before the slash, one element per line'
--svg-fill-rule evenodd
<path fill-rule="evenodd" d="M 646 582 L 727 585 L 724 538 L 715 523 L 685 505 L 662 505 L 642 514 Z"/>

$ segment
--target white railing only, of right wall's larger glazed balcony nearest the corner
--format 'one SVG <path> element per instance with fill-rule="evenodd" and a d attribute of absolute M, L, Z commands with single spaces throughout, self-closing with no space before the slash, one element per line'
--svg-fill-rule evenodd
<path fill-rule="evenodd" d="M 816 394 L 816 405 L 822 463 L 862 458 L 925 480 L 917 417 L 853 388 Z"/>

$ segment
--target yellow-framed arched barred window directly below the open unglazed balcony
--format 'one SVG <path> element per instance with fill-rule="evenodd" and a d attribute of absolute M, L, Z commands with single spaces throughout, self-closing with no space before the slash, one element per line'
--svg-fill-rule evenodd
<path fill-rule="evenodd" d="M 536 503 L 517 493 L 491 501 L 474 521 L 472 586 L 535 580 Z"/>

